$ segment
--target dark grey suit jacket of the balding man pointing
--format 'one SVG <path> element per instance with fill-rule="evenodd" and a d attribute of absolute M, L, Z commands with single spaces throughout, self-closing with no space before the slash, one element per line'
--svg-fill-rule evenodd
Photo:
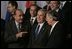
<path fill-rule="evenodd" d="M 28 31 L 29 33 L 29 26 L 27 23 L 23 23 L 22 28 L 24 28 L 24 30 Z M 4 39 L 8 44 L 8 48 L 23 48 L 27 46 L 29 39 L 28 34 L 24 34 L 22 38 L 17 39 L 17 32 L 18 30 L 14 20 L 10 20 L 6 23 Z"/>

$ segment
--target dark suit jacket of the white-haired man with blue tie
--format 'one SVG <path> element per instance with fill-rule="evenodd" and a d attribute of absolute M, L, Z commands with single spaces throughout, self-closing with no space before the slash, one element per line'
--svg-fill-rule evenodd
<path fill-rule="evenodd" d="M 37 27 L 37 24 L 33 26 L 32 32 L 30 34 L 31 36 L 30 36 L 28 48 L 44 48 L 46 46 L 48 40 L 47 25 L 48 24 L 45 22 L 36 39 L 35 39 L 35 29 Z"/>

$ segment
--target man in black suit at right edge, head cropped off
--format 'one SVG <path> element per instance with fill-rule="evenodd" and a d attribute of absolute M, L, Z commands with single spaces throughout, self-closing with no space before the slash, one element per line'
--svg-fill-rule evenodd
<path fill-rule="evenodd" d="M 62 10 L 61 10 L 61 15 L 63 18 L 63 20 L 61 21 L 63 23 L 64 29 L 65 29 L 65 33 L 66 33 L 66 43 L 65 43 L 65 47 L 71 47 L 71 2 L 69 1 L 62 1 L 63 2 L 63 6 L 62 6 Z"/>

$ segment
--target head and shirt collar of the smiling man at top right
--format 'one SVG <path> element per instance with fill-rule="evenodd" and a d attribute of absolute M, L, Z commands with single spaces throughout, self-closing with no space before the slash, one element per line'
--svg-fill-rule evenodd
<path fill-rule="evenodd" d="M 61 9 L 59 8 L 60 7 L 60 1 L 50 1 L 50 4 L 49 4 L 51 10 L 55 10 L 57 13 L 58 13 L 58 17 L 60 16 L 60 11 Z"/>

